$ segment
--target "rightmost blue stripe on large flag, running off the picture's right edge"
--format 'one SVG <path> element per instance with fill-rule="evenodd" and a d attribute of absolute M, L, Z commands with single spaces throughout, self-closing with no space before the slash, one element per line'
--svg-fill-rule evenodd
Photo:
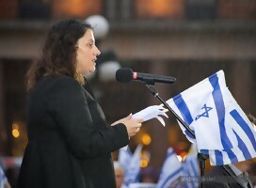
<path fill-rule="evenodd" d="M 253 148 L 256 150 L 256 141 L 254 138 L 253 133 L 251 132 L 248 123 L 240 116 L 240 114 L 237 112 L 237 110 L 232 110 L 230 112 L 232 115 L 232 118 L 237 122 L 237 124 L 243 129 L 243 131 L 248 135 L 248 138 L 253 146 Z"/>

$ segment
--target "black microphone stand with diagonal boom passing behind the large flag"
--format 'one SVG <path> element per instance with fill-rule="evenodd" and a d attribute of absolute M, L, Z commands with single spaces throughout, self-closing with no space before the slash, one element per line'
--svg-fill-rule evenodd
<path fill-rule="evenodd" d="M 145 81 L 144 84 L 146 84 L 146 86 L 148 87 L 148 89 L 150 90 L 150 92 L 152 93 L 152 95 L 154 97 L 156 97 L 160 102 L 162 102 L 164 104 L 164 106 L 168 109 L 169 112 L 171 112 L 171 114 L 174 115 L 175 118 L 177 118 L 177 120 L 179 120 L 179 122 L 184 126 L 184 128 L 191 133 L 191 135 L 196 138 L 195 133 L 190 129 L 190 127 L 188 127 L 184 120 L 182 118 L 180 118 L 172 109 L 171 107 L 168 105 L 167 102 L 165 102 L 160 96 L 158 91 L 154 88 L 154 81 L 152 80 L 148 80 Z M 198 153 L 198 160 L 200 163 L 200 178 L 203 179 L 204 177 L 204 169 L 205 169 L 205 161 L 209 158 L 208 155 L 206 154 L 202 154 L 202 153 Z M 231 171 L 231 169 L 229 169 L 229 167 L 227 167 L 226 165 L 222 165 L 223 169 L 232 177 L 233 180 L 235 180 L 240 187 L 244 188 L 244 185 L 242 184 L 242 182 L 240 182 L 235 174 Z M 203 184 L 202 181 L 200 180 L 200 188 L 202 188 Z"/>

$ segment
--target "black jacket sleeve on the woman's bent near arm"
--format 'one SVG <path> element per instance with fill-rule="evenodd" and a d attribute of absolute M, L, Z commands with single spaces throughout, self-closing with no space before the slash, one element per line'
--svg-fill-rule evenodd
<path fill-rule="evenodd" d="M 49 100 L 49 111 L 56 119 L 68 147 L 78 158 L 91 158 L 120 149 L 129 142 L 126 127 L 93 126 L 84 90 L 72 77 L 62 76 Z"/>

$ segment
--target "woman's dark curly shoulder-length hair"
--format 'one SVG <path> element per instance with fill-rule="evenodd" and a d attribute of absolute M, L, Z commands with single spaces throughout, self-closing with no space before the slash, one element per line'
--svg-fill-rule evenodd
<path fill-rule="evenodd" d="M 45 39 L 40 59 L 27 71 L 28 91 L 44 75 L 68 75 L 84 84 L 83 75 L 76 71 L 76 44 L 88 29 L 93 29 L 90 24 L 74 19 L 60 21 L 52 26 Z"/>

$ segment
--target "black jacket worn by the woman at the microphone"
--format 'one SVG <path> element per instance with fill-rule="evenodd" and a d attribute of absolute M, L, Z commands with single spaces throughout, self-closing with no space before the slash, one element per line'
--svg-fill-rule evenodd
<path fill-rule="evenodd" d="M 116 187 L 111 151 L 128 144 L 100 105 L 69 76 L 45 76 L 29 93 L 19 188 Z"/>

